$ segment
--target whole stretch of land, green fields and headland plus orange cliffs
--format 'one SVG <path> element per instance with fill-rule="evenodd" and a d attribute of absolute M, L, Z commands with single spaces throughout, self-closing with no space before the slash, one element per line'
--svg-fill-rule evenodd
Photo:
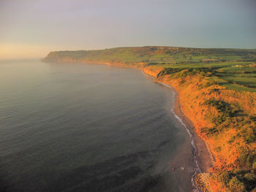
<path fill-rule="evenodd" d="M 256 191 L 256 50 L 120 47 L 51 52 L 43 61 L 134 67 L 171 85 L 214 157 L 211 191 Z"/>

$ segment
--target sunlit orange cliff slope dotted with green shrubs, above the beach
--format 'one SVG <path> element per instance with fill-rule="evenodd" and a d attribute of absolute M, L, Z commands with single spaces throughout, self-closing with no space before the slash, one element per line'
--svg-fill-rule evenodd
<path fill-rule="evenodd" d="M 227 90 L 195 71 L 185 69 L 159 80 L 180 93 L 184 113 L 214 155 L 212 191 L 252 191 L 256 187 L 256 93 Z"/>

